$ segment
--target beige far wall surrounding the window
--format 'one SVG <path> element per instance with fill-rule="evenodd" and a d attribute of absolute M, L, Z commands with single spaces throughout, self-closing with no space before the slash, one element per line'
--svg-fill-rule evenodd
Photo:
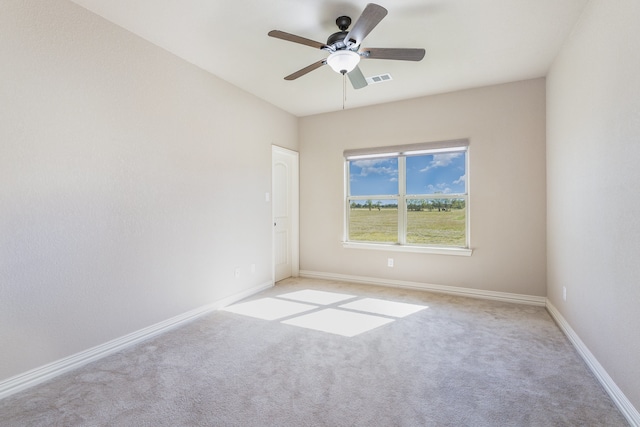
<path fill-rule="evenodd" d="M 545 296 L 544 79 L 310 116 L 299 127 L 302 270 Z M 457 138 L 470 141 L 471 257 L 342 247 L 344 149 Z"/>

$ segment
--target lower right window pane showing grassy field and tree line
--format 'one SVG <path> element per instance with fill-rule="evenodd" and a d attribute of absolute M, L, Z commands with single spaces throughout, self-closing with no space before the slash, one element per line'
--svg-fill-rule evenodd
<path fill-rule="evenodd" d="M 464 199 L 407 200 L 407 243 L 467 245 Z"/>

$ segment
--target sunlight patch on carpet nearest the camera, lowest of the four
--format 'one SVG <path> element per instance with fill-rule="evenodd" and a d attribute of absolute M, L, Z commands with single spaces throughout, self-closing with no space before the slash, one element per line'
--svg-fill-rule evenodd
<path fill-rule="evenodd" d="M 393 319 L 384 317 L 328 308 L 316 313 L 305 314 L 285 320 L 282 323 L 329 332 L 344 337 L 353 337 L 393 321 Z"/>

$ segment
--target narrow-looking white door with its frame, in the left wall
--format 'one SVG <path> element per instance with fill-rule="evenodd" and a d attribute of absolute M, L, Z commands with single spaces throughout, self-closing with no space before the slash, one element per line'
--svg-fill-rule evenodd
<path fill-rule="evenodd" d="M 277 282 L 297 276 L 298 153 L 272 147 L 273 274 Z"/>

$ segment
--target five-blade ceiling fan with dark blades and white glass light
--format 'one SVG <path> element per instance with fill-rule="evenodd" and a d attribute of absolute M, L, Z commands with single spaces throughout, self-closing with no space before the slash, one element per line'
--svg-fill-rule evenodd
<path fill-rule="evenodd" d="M 373 30 L 376 25 L 382 21 L 387 15 L 387 9 L 374 3 L 369 3 L 362 15 L 353 25 L 351 30 L 347 31 L 351 25 L 351 18 L 348 16 L 340 16 L 336 19 L 336 25 L 340 29 L 337 33 L 329 36 L 326 43 L 317 42 L 294 34 L 285 33 L 284 31 L 269 31 L 269 36 L 277 39 L 287 40 L 294 43 L 311 46 L 329 52 L 329 56 L 318 62 L 314 62 L 301 70 L 285 77 L 285 80 L 295 80 L 305 74 L 320 68 L 325 64 L 340 74 L 349 76 L 354 89 L 361 89 L 367 86 L 365 79 L 358 63 L 361 58 L 368 59 L 394 59 L 402 61 L 420 61 L 424 58 L 424 49 L 409 48 L 360 48 L 360 44 L 364 38 Z"/>

